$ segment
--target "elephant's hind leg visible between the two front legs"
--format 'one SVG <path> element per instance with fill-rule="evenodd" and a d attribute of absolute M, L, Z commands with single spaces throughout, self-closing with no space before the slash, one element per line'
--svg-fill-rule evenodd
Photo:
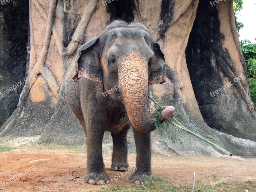
<path fill-rule="evenodd" d="M 130 125 L 126 125 L 117 134 L 111 133 L 113 139 L 113 155 L 111 168 L 117 171 L 125 171 L 129 165 L 127 163 L 127 132 Z"/>

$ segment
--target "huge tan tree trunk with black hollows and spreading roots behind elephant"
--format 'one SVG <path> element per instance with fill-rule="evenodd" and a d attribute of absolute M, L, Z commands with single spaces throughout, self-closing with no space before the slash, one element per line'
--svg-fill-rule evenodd
<path fill-rule="evenodd" d="M 165 52 L 167 81 L 153 85 L 153 95 L 173 97 L 173 105 L 197 122 L 200 132 L 236 155 L 256 155 L 256 111 L 235 25 L 232 1 L 211 6 L 203 0 L 101 1 L 30 0 L 28 81 L 19 105 L 0 129 L 2 136 L 41 135 L 58 144 L 84 144 L 84 133 L 66 105 L 63 78 L 81 44 L 99 36 L 112 20 L 140 22 Z M 7 5 L 6 5 L 7 6 Z M 11 54 L 11 53 L 9 53 Z M 234 82 L 238 76 L 245 79 Z M 231 86 L 215 96 L 227 82 Z M 234 84 L 233 84 L 234 83 Z M 172 103 L 167 103 L 172 104 Z M 188 124 L 189 125 L 189 124 Z M 105 135 L 108 143 L 110 135 Z M 132 136 L 131 136 L 132 137 Z M 187 151 L 218 156 L 211 146 L 177 132 Z M 152 133 L 153 151 L 167 151 Z M 248 140 L 247 140 L 248 139 Z M 130 151 L 134 151 L 131 140 Z M 205 147 L 205 145 L 207 145 Z"/>

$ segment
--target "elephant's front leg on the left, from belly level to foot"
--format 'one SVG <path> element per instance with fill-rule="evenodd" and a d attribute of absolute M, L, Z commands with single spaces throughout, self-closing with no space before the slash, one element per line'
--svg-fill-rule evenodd
<path fill-rule="evenodd" d="M 105 126 L 95 121 L 86 124 L 86 128 L 87 170 L 84 181 L 89 184 L 102 185 L 109 180 L 102 157 L 102 140 Z"/>

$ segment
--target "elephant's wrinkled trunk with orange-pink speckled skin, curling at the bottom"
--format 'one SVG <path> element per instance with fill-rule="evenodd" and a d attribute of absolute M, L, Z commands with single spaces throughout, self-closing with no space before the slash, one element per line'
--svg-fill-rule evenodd
<path fill-rule="evenodd" d="M 147 110 L 148 63 L 138 55 L 127 57 L 121 62 L 118 80 L 128 118 L 137 131 L 151 132 L 155 129 L 155 122 L 149 117 Z"/>

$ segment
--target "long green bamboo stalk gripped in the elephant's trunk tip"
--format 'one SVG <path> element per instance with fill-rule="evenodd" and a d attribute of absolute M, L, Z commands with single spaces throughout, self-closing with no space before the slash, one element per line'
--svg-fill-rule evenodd
<path fill-rule="evenodd" d="M 156 102 L 156 100 L 154 100 L 154 99 L 153 99 L 152 97 L 150 97 L 149 95 L 148 95 L 148 98 L 149 98 L 150 100 L 152 100 L 157 106 L 159 106 L 161 109 L 164 110 L 164 108 L 163 108 L 158 102 Z M 199 138 L 199 139 L 205 141 L 206 143 L 209 143 L 209 144 L 212 145 L 213 147 L 215 147 L 215 148 L 217 148 L 217 149 L 223 151 L 223 152 L 226 153 L 227 155 L 232 156 L 232 154 L 231 154 L 230 152 L 228 152 L 226 149 L 223 149 L 223 148 L 221 148 L 220 146 L 216 145 L 215 143 L 213 143 L 213 142 L 211 142 L 211 141 L 209 141 L 209 140 L 207 140 L 207 139 L 201 137 L 200 135 L 197 135 L 196 133 L 194 133 L 194 132 L 188 130 L 188 129 L 187 129 L 186 127 L 184 127 L 175 117 L 172 117 L 172 119 L 176 122 L 176 124 L 173 123 L 173 122 L 170 121 L 170 120 L 167 120 L 167 122 L 172 123 L 172 124 L 178 126 L 178 127 L 179 127 L 180 129 L 182 129 L 183 131 L 186 131 L 186 132 L 188 132 L 188 133 L 194 135 L 195 137 L 197 137 L 197 138 Z"/>

